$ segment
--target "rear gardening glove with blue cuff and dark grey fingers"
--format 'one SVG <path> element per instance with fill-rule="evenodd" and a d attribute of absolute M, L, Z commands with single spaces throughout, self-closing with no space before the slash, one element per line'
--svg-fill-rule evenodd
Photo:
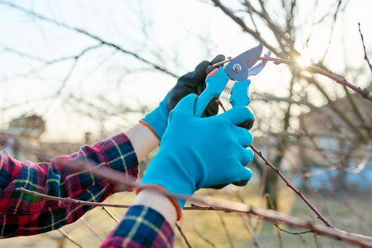
<path fill-rule="evenodd" d="M 165 96 L 164 100 L 159 103 L 159 106 L 151 113 L 148 113 L 145 118 L 140 120 L 140 123 L 150 128 L 152 133 L 162 140 L 165 129 L 168 124 L 169 112 L 177 105 L 179 100 L 190 93 L 200 95 L 205 89 L 205 77 L 215 69 L 212 64 L 225 60 L 225 56 L 218 55 L 211 62 L 204 60 L 192 72 L 184 74 L 177 80 L 176 86 Z M 203 116 L 216 115 L 218 113 L 218 105 L 214 100 L 210 101 Z"/>

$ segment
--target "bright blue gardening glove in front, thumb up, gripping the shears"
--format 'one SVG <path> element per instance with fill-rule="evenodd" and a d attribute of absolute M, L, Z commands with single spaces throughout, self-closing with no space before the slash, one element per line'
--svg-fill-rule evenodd
<path fill-rule="evenodd" d="M 199 188 L 251 179 L 252 171 L 245 165 L 254 156 L 246 148 L 253 136 L 238 125 L 253 119 L 252 111 L 240 106 L 221 115 L 197 118 L 195 103 L 196 95 L 189 94 L 171 111 L 159 152 L 139 190 L 161 186 L 171 193 L 191 196 Z M 177 201 L 175 206 L 180 213 L 185 201 Z"/>

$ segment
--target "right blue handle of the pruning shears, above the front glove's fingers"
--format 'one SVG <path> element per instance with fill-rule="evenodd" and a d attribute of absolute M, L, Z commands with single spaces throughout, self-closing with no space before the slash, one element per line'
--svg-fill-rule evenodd
<path fill-rule="evenodd" d="M 232 108 L 247 106 L 251 102 L 251 98 L 249 97 L 249 84 L 251 84 L 251 80 L 247 79 L 244 81 L 237 81 L 234 86 L 232 86 L 232 93 L 229 99 Z M 239 126 L 249 130 L 253 127 L 253 124 L 254 118 L 244 121 L 244 123 Z"/>

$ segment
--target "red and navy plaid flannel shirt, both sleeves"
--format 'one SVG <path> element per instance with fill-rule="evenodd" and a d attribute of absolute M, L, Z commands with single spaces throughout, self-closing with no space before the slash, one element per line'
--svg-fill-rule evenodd
<path fill-rule="evenodd" d="M 137 156 L 124 134 L 101 140 L 93 146 L 85 145 L 79 152 L 58 157 L 60 159 L 66 162 L 84 159 L 96 166 L 110 167 L 132 176 L 138 176 L 139 173 Z M 92 208 L 89 205 L 46 200 L 21 193 L 15 188 L 23 187 L 50 196 L 95 202 L 104 201 L 115 193 L 115 186 L 110 182 L 66 169 L 54 160 L 39 164 L 20 162 L 6 152 L 0 152 L 0 238 L 56 230 L 78 220 Z M 172 244 L 173 231 L 162 215 L 137 205 L 128 210 L 103 247 L 167 247 Z"/>

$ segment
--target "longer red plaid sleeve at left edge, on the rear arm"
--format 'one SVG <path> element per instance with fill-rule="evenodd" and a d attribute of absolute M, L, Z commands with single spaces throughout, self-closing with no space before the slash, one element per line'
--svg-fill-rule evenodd
<path fill-rule="evenodd" d="M 92 207 L 45 200 L 21 193 L 16 188 L 69 197 L 81 201 L 101 202 L 115 193 L 115 186 L 91 174 L 72 171 L 55 161 L 89 161 L 97 167 L 110 167 L 138 177 L 138 161 L 126 135 L 83 146 L 74 154 L 60 156 L 50 163 L 20 162 L 0 152 L 0 238 L 37 235 L 56 230 L 79 219 Z M 133 190 L 131 188 L 128 191 Z"/>

